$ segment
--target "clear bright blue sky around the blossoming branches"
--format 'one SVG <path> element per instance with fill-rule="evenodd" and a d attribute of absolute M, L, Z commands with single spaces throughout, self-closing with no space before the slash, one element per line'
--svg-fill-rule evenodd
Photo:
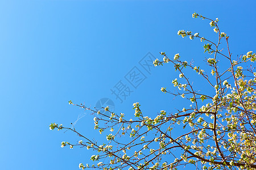
<path fill-rule="evenodd" d="M 94 107 L 108 97 L 115 112 L 133 116 L 132 104 L 144 112 L 169 113 L 173 97 L 160 92 L 177 76 L 172 65 L 151 74 L 139 61 L 148 53 L 159 58 L 180 53 L 203 63 L 203 44 L 177 36 L 179 29 L 213 37 L 208 22 L 193 19 L 197 12 L 220 19 L 230 36 L 234 56 L 255 52 L 255 1 L 0 1 L 0 169 L 79 169 L 92 152 L 61 148 L 76 142 L 72 133 L 49 131 L 51 122 L 70 126 L 101 139 L 93 116 L 68 105 Z M 120 103 L 110 89 L 137 66 L 146 79 Z M 105 137 L 104 137 L 105 139 Z"/>

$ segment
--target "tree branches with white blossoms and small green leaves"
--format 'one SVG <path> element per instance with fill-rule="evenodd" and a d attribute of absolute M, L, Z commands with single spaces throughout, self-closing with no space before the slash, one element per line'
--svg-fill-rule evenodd
<path fill-rule="evenodd" d="M 229 50 L 229 36 L 220 31 L 218 18 L 212 20 L 196 13 L 192 16 L 208 20 L 218 37 L 214 42 L 199 33 L 177 32 L 183 38 L 188 36 L 205 43 L 204 53 L 209 54 L 205 70 L 181 60 L 179 53 L 168 57 L 161 52 L 162 61 L 155 59 L 153 63 L 154 66 L 174 65 L 179 78 L 172 80 L 172 84 L 177 90 L 173 92 L 167 87 L 160 90 L 187 99 L 190 105 L 184 104 L 174 114 L 175 111 L 159 109 L 151 118 L 144 115 L 139 103 L 134 103 L 135 118 L 127 120 L 124 113 L 110 112 L 108 107 L 105 111 L 110 112 L 110 116 L 69 101 L 92 111 L 94 129 L 106 135 L 106 141 L 95 142 L 75 128 L 50 125 L 50 130 L 68 129 L 82 139 L 74 144 L 62 142 L 61 147 L 80 146 L 96 152 L 90 158 L 94 164 L 80 163 L 79 168 L 177 169 L 191 164 L 195 169 L 256 169 L 256 73 L 253 72 L 256 54 L 250 51 L 234 60 Z M 204 79 L 201 84 L 210 87 L 208 92 L 194 87 L 185 70 L 201 76 Z M 180 133 L 172 133 L 174 129 Z"/>

